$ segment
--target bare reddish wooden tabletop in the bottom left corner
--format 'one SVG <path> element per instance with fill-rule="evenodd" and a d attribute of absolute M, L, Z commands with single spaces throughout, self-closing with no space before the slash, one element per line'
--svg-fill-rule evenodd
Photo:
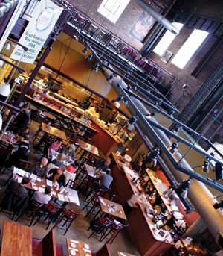
<path fill-rule="evenodd" d="M 1 238 L 1 255 L 32 256 L 32 228 L 5 220 Z"/>

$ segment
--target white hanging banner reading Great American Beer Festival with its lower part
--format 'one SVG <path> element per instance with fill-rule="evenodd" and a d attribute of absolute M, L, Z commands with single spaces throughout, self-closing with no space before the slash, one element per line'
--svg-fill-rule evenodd
<path fill-rule="evenodd" d="M 41 0 L 36 10 L 33 10 L 32 19 L 19 39 L 19 43 L 28 47 L 28 51 L 25 52 L 21 46 L 17 45 L 10 58 L 33 64 L 62 10 L 62 7 L 50 0 Z"/>

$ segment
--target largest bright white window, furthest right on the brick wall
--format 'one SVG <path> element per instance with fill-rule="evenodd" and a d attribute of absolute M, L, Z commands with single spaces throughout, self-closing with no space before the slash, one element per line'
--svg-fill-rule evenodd
<path fill-rule="evenodd" d="M 207 35 L 208 32 L 195 29 L 172 59 L 172 63 L 175 64 L 175 66 L 178 66 L 178 68 L 184 69 L 184 66 L 193 56 L 198 47 L 201 46 L 201 43 L 203 43 Z"/>

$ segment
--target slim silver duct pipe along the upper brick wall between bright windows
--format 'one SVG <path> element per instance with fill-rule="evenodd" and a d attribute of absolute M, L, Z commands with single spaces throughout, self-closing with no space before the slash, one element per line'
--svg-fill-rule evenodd
<path fill-rule="evenodd" d="M 136 4 L 138 4 L 143 10 L 146 11 L 146 13 L 149 13 L 154 19 L 156 19 L 157 22 L 161 23 L 161 25 L 164 26 L 164 28 L 167 28 L 169 31 L 171 31 L 173 34 L 179 34 L 178 28 L 175 28 L 174 25 L 172 25 L 171 22 L 169 22 L 168 19 L 166 19 L 161 13 L 158 13 L 156 10 L 154 10 L 149 4 L 147 4 L 143 0 L 133 0 Z"/>

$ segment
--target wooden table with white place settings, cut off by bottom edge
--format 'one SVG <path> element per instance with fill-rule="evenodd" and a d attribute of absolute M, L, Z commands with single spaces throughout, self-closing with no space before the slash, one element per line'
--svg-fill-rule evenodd
<path fill-rule="evenodd" d="M 69 256 L 92 256 L 88 243 L 67 238 L 67 247 Z"/>

